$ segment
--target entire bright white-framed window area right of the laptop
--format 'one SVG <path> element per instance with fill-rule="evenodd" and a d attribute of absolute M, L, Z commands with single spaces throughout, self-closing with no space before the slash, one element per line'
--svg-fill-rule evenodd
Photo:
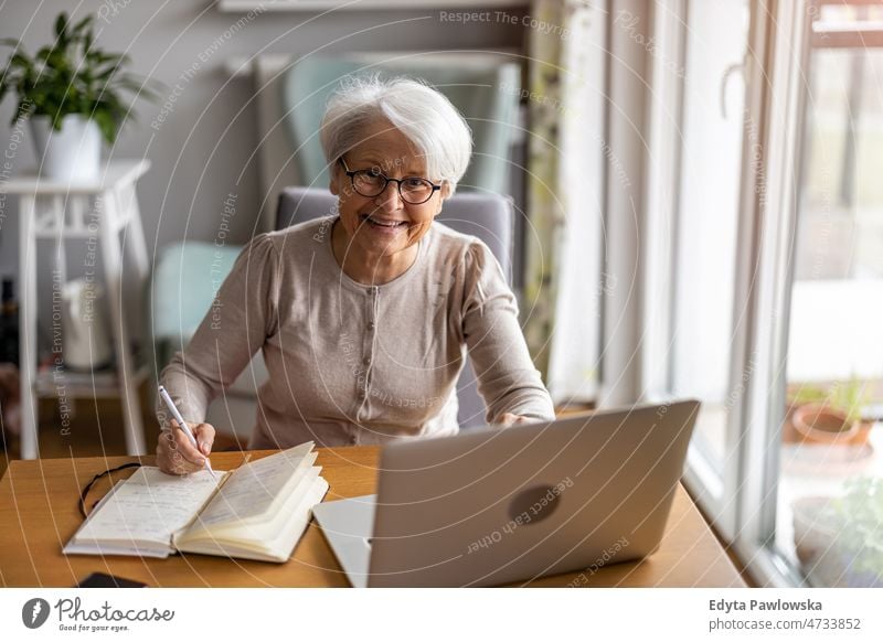
<path fill-rule="evenodd" d="M 703 402 L 687 480 L 759 584 L 883 585 L 883 8 L 845 4 L 656 17 L 646 397 Z"/>

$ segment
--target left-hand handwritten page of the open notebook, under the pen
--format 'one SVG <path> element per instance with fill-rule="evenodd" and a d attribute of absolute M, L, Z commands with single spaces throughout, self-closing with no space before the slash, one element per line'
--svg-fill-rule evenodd
<path fill-rule="evenodd" d="M 89 516 L 76 538 L 168 545 L 223 481 L 225 473 L 215 473 L 217 481 L 206 470 L 175 477 L 158 468 L 139 468 Z"/>

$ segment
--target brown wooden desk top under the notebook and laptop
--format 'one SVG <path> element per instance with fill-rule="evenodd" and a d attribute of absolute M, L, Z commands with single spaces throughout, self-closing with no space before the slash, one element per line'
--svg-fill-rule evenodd
<path fill-rule="evenodd" d="M 270 454 L 253 453 L 253 458 Z M 377 447 L 321 448 L 317 463 L 331 490 L 327 500 L 375 491 Z M 62 546 L 82 523 L 79 490 L 96 473 L 130 457 L 12 461 L 0 481 L 0 586 L 71 587 L 93 571 L 151 587 L 345 587 L 343 571 L 315 523 L 287 564 L 175 555 L 168 559 L 65 556 Z M 228 470 L 243 453 L 217 453 L 212 466 Z M 143 463 L 152 464 L 152 457 Z M 104 486 L 108 488 L 107 485 Z M 94 500 L 100 491 L 93 493 Z M 564 587 L 742 587 L 744 584 L 690 497 L 678 489 L 666 536 L 649 558 L 610 565 L 594 574 L 574 573 L 530 582 Z"/>

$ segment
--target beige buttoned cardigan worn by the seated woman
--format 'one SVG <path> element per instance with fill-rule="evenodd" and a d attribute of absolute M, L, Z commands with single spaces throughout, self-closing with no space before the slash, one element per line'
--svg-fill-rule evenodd
<path fill-rule="evenodd" d="M 263 350 L 249 448 L 382 443 L 454 435 L 456 382 L 469 351 L 488 406 L 554 417 L 515 300 L 490 249 L 434 223 L 406 272 L 350 279 L 331 249 L 333 218 L 256 236 L 236 259 L 187 349 L 161 381 L 188 421 Z M 166 427 L 168 413 L 157 409 Z"/>

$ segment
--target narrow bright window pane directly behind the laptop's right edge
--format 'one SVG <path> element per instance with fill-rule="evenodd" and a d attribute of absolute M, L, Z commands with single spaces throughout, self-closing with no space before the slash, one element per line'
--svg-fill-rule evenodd
<path fill-rule="evenodd" d="M 731 410 L 746 140 L 747 0 L 657 4 L 647 212 L 645 397 L 702 410 L 690 474 L 733 535 L 738 438 Z M 757 132 L 751 132 L 756 136 Z"/>

